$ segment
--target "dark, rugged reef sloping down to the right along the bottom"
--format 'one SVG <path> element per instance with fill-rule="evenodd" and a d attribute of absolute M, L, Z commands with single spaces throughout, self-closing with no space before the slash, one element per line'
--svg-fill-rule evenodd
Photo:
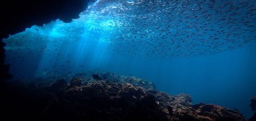
<path fill-rule="evenodd" d="M 169 95 L 152 83 L 110 73 L 75 75 L 70 83 L 9 83 L 3 120 L 245 120 L 236 110 L 193 105 L 189 95 Z M 90 79 L 84 80 L 84 77 Z M 99 80 L 98 78 L 102 79 Z M 112 80 L 114 79 L 114 80 Z M 132 81 L 130 81 L 132 80 Z M 127 83 L 131 82 L 131 83 Z M 134 85 L 133 85 L 134 83 Z M 141 85 L 139 85 L 141 84 Z M 139 86 L 138 86 L 139 85 Z M 9 117 L 7 114 L 15 116 Z"/>

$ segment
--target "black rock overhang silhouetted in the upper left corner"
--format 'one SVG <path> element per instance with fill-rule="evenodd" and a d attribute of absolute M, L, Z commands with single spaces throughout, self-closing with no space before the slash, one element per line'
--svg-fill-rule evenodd
<path fill-rule="evenodd" d="M 0 4 L 1 18 L 3 18 L 0 23 L 0 81 L 11 79 L 9 65 L 5 65 L 4 62 L 3 38 L 22 32 L 34 24 L 42 26 L 58 18 L 63 22 L 71 22 L 72 19 L 79 17 L 79 13 L 86 9 L 90 1 L 94 0 L 56 0 L 54 2 L 51 0 L 4 0 Z"/>

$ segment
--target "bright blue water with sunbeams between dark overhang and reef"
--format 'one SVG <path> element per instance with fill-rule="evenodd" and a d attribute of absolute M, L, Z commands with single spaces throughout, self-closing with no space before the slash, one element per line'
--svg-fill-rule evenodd
<path fill-rule="evenodd" d="M 3 41 L 13 79 L 113 72 L 249 118 L 255 25 L 255 0 L 98 0 L 71 23 L 57 19 Z"/>

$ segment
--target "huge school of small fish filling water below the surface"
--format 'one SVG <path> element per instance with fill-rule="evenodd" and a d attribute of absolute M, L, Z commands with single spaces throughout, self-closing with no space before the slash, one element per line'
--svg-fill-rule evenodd
<path fill-rule="evenodd" d="M 3 41 L 9 61 L 43 52 L 56 58 L 85 42 L 104 54 L 168 59 L 247 46 L 255 27 L 256 0 L 98 0 L 71 23 L 32 26 Z M 69 56 L 59 59 L 71 63 Z"/>

